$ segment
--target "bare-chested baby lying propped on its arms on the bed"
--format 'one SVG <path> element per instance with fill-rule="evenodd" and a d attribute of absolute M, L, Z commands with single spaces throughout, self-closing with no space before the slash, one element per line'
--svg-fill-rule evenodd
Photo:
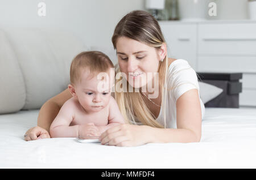
<path fill-rule="evenodd" d="M 68 85 L 73 97 L 64 103 L 52 122 L 51 138 L 93 139 L 92 136 L 100 136 L 109 127 L 125 123 L 111 96 L 114 82 L 97 78 L 100 72 L 110 77 L 110 68 L 114 68 L 113 63 L 101 52 L 82 52 L 73 59 Z"/>

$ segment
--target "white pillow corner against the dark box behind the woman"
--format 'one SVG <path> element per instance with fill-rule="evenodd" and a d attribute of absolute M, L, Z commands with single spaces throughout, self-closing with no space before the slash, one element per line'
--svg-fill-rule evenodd
<path fill-rule="evenodd" d="M 218 95 L 220 95 L 220 93 L 223 92 L 223 89 L 218 88 L 214 85 L 203 82 L 198 83 L 200 88 L 200 97 L 204 104 L 212 100 L 213 98 L 217 97 Z"/>

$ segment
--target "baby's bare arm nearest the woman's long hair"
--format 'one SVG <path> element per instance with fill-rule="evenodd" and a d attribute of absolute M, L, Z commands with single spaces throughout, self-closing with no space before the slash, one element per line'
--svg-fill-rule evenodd
<path fill-rule="evenodd" d="M 124 123 L 125 119 L 118 108 L 117 102 L 111 96 L 109 100 L 109 123 L 106 126 L 97 126 L 98 130 L 100 131 L 100 134 L 102 134 L 102 132 L 106 131 L 108 128 Z"/>

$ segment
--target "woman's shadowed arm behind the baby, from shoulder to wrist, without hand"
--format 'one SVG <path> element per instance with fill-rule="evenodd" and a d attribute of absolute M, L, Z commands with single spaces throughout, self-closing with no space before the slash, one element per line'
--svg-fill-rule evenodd
<path fill-rule="evenodd" d="M 46 101 L 38 115 L 38 126 L 49 132 L 49 127 L 56 115 L 59 113 L 60 108 L 63 106 L 64 102 L 69 100 L 71 97 L 72 95 L 69 93 L 69 90 L 65 89 L 65 91 L 59 93 L 59 95 L 56 95 Z"/>

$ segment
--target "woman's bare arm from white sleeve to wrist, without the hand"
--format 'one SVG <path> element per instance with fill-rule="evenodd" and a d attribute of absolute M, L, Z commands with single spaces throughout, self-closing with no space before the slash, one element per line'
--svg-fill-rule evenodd
<path fill-rule="evenodd" d="M 151 143 L 191 143 L 201 139 L 201 105 L 197 89 L 181 95 L 176 102 L 177 129 L 152 128 Z"/>

